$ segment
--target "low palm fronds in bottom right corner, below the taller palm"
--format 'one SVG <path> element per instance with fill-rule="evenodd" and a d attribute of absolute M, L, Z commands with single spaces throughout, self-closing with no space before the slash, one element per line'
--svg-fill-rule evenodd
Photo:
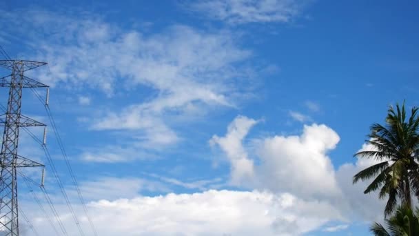
<path fill-rule="evenodd" d="M 419 235 L 419 208 L 415 212 L 409 206 L 403 205 L 396 210 L 390 219 L 385 220 L 388 230 L 375 222 L 369 230 L 376 236 L 413 236 Z"/>

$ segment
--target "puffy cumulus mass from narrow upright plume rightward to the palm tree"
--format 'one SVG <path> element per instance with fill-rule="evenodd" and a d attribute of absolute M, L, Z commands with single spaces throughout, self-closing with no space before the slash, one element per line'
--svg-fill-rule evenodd
<path fill-rule="evenodd" d="M 239 126 L 242 129 L 236 127 L 238 124 L 242 124 Z M 363 194 L 369 184 L 367 181 L 352 184 L 356 173 L 377 163 L 374 159 L 357 158 L 354 164 L 343 164 L 335 170 L 328 153 L 336 148 L 340 138 L 323 124 L 305 125 L 300 135 L 254 138 L 252 149 L 247 149 L 244 139 L 254 124 L 253 119 L 239 116 L 229 125 L 224 137 L 214 136 L 214 144 L 220 146 L 230 161 L 232 173 L 236 166 L 234 158 L 240 157 L 250 163 L 247 170 L 252 170 L 252 175 L 248 175 L 246 181 L 233 184 L 272 193 L 291 193 L 300 199 L 321 199 L 338 209 L 344 221 L 382 220 L 385 200 L 378 199 L 377 193 Z M 234 135 L 236 130 L 243 132 Z M 364 144 L 360 150 L 371 148 Z M 248 150 L 254 152 L 254 159 L 249 159 Z"/>

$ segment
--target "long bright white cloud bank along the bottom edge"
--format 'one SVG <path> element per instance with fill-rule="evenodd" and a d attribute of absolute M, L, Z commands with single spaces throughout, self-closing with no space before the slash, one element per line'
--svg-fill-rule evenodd
<path fill-rule="evenodd" d="M 57 205 L 59 213 L 66 206 Z M 34 206 L 25 203 L 25 209 Z M 81 226 L 88 231 L 80 206 Z M 100 200 L 88 204 L 99 235 L 300 235 L 340 214 L 323 201 L 302 201 L 292 195 L 259 191 L 208 190 L 203 193 L 173 194 Z M 41 235 L 52 236 L 51 227 L 37 210 L 27 214 Z M 61 219 L 69 235 L 76 227 L 68 214 Z M 72 226 L 73 225 L 73 226 Z"/>

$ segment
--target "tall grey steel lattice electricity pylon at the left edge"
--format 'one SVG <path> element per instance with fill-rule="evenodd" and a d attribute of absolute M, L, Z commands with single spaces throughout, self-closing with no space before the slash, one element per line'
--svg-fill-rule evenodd
<path fill-rule="evenodd" d="M 0 78 L 0 87 L 9 88 L 6 113 L 0 116 L 0 126 L 4 126 L 0 153 L 0 234 L 19 236 L 17 204 L 17 168 L 43 166 L 17 154 L 19 128 L 45 126 L 21 115 L 23 88 L 48 88 L 43 83 L 30 79 L 23 72 L 45 65 L 45 62 L 23 60 L 0 60 L 0 66 L 11 70 L 11 74 Z M 45 134 L 44 134 L 45 139 Z"/>

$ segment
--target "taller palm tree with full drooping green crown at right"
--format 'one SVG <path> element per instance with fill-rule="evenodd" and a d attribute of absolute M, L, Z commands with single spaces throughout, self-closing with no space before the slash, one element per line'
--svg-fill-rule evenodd
<path fill-rule="evenodd" d="M 419 119 L 418 108 L 411 109 L 406 117 L 405 103 L 389 107 L 385 125 L 373 124 L 367 144 L 373 150 L 363 150 L 355 157 L 372 158 L 380 163 L 361 170 L 354 176 L 354 184 L 365 179 L 374 180 L 364 193 L 380 188 L 379 197 L 389 197 L 385 206 L 385 217 L 394 211 L 398 198 L 402 204 L 411 208 L 411 191 L 419 196 Z"/>

